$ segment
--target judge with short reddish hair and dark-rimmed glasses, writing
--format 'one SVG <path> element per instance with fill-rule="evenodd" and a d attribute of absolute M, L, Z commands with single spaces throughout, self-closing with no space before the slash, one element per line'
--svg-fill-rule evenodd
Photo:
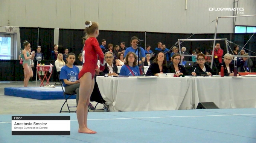
<path fill-rule="evenodd" d="M 197 54 L 197 64 L 194 66 L 195 73 L 200 76 L 201 74 L 212 75 L 212 69 L 209 65 L 205 64 L 205 55 L 202 53 Z M 215 73 L 216 74 L 216 73 Z"/>

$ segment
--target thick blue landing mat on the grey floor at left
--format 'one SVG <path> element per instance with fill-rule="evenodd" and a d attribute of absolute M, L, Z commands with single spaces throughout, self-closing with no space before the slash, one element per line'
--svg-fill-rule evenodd
<path fill-rule="evenodd" d="M 61 87 L 6 87 L 5 95 L 38 100 L 65 99 Z M 76 99 L 76 95 L 72 95 L 69 99 Z"/>

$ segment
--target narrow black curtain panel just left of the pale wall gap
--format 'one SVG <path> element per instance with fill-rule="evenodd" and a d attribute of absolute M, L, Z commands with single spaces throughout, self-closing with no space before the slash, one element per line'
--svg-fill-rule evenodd
<path fill-rule="evenodd" d="M 50 60 L 54 45 L 54 28 L 39 28 L 38 45 L 41 46 L 44 59 Z M 37 52 L 36 49 L 34 50 Z"/>

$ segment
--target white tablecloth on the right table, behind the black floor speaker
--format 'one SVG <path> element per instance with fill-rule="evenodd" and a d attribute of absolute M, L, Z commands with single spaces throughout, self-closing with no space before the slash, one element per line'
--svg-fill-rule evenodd
<path fill-rule="evenodd" d="M 256 108 L 256 77 L 192 77 L 193 104 L 219 108 Z"/>

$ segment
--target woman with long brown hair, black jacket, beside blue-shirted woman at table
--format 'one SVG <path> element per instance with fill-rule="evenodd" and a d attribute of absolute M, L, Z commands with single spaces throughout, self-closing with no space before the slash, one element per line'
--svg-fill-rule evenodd
<path fill-rule="evenodd" d="M 153 63 L 149 66 L 146 73 L 147 76 L 158 76 L 158 73 L 167 73 L 166 56 L 163 52 L 159 52 Z"/>

